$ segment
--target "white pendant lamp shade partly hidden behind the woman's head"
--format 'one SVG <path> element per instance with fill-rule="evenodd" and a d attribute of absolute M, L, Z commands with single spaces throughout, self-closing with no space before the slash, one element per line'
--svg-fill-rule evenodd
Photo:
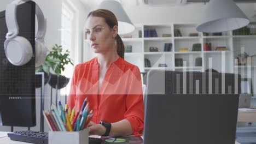
<path fill-rule="evenodd" d="M 127 34 L 134 31 L 135 26 L 133 26 L 133 23 L 119 2 L 113 0 L 102 1 L 99 9 L 110 10 L 117 16 L 118 34 Z"/>

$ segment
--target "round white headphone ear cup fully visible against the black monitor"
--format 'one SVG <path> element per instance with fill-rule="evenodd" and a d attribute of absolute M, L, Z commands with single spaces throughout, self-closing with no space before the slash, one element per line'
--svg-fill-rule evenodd
<path fill-rule="evenodd" d="M 30 41 L 19 36 L 4 41 L 4 52 L 8 61 L 17 66 L 26 64 L 33 56 Z"/>

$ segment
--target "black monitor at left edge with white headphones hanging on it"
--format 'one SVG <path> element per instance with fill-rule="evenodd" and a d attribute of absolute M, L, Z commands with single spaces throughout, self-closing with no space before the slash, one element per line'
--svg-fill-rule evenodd
<path fill-rule="evenodd" d="M 18 5 L 19 35 L 27 38 L 34 51 L 35 3 Z M 14 66 L 4 53 L 7 33 L 5 11 L 0 12 L 0 123 L 1 125 L 33 127 L 36 125 L 34 57 L 25 65 Z"/>

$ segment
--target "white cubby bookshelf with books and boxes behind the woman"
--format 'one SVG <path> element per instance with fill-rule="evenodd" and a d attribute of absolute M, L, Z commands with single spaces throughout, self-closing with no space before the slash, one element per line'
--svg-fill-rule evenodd
<path fill-rule="evenodd" d="M 172 70 L 200 69 L 205 71 L 205 69 L 213 68 L 225 73 L 234 73 L 235 69 L 244 68 L 234 64 L 237 49 L 242 45 L 248 47 L 248 41 L 256 41 L 256 35 L 232 35 L 232 31 L 223 32 L 222 35 L 206 36 L 196 31 L 195 23 L 143 23 L 135 26 L 135 31 L 130 33 L 131 38 L 123 38 L 124 35 L 121 37 L 125 46 L 132 45 L 132 52 L 125 52 L 125 60 L 137 65 L 141 72 L 150 69 L 166 69 L 166 67 L 158 67 L 159 64 L 165 63 L 167 68 Z M 144 33 L 146 29 L 155 29 L 158 37 L 146 37 Z M 177 36 L 174 35 L 175 29 L 180 30 L 182 37 L 174 37 Z M 139 31 L 141 31 L 141 37 L 139 37 Z M 194 33 L 193 37 L 190 37 L 191 33 Z M 195 33 L 197 33 L 196 36 Z M 162 34 L 171 34 L 171 37 L 162 37 Z M 88 40 L 85 40 L 85 43 L 88 43 Z M 171 51 L 164 51 L 165 43 L 172 43 Z M 204 51 L 205 43 L 211 43 L 212 51 Z M 193 44 L 201 44 L 201 51 L 192 51 Z M 256 42 L 252 46 L 255 47 L 255 45 Z M 228 50 L 216 51 L 218 46 L 225 46 Z M 149 47 L 158 47 L 158 51 L 150 51 Z M 189 51 L 181 52 L 180 48 L 188 48 Z M 195 59 L 198 57 L 202 58 L 201 66 L 195 64 Z M 145 58 L 149 59 L 152 68 L 144 67 Z M 176 58 L 182 58 L 187 65 L 177 67 Z M 245 69 L 247 68 L 254 69 L 256 66 L 245 66 Z"/>

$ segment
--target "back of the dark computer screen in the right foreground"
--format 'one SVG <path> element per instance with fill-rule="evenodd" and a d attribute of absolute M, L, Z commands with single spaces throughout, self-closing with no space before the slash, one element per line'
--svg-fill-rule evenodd
<path fill-rule="evenodd" d="M 234 144 L 238 81 L 237 74 L 149 71 L 144 143 Z"/>

